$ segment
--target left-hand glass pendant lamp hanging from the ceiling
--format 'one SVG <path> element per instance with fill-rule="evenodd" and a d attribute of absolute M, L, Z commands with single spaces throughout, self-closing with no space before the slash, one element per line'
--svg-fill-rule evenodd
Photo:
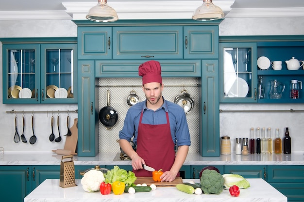
<path fill-rule="evenodd" d="M 116 11 L 107 4 L 107 0 L 98 0 L 97 5 L 89 10 L 85 18 L 94 22 L 114 22 L 118 20 Z"/>

